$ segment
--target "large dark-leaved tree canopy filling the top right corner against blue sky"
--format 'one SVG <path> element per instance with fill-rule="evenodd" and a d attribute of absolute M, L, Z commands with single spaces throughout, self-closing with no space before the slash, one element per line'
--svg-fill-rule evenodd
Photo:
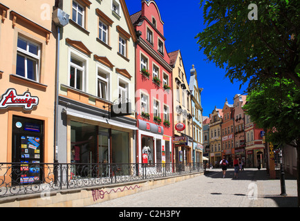
<path fill-rule="evenodd" d="M 201 0 L 200 4 L 207 28 L 196 36 L 199 49 L 208 61 L 226 68 L 232 83 L 250 82 L 249 91 L 265 79 L 284 77 L 300 87 L 300 1 Z"/>

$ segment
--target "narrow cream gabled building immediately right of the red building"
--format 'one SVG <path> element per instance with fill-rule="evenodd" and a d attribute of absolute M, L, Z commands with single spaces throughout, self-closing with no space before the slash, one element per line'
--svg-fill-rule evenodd
<path fill-rule="evenodd" d="M 193 122 L 191 115 L 191 93 L 185 75 L 180 50 L 169 53 L 170 63 L 173 66 L 173 110 L 174 125 L 185 124 L 185 130 L 177 131 L 174 128 L 174 137 L 185 137 L 184 143 L 174 143 L 174 160 L 176 163 L 193 162 Z"/>

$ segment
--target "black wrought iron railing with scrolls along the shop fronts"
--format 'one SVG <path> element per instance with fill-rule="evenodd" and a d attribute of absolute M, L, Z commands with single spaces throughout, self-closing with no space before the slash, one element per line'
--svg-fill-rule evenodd
<path fill-rule="evenodd" d="M 149 180 L 203 171 L 189 164 L 0 163 L 0 198 Z"/>

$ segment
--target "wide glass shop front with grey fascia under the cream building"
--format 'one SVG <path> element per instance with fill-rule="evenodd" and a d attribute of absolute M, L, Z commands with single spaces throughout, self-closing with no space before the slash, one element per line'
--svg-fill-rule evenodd
<path fill-rule="evenodd" d="M 115 117 L 101 108 L 59 99 L 59 163 L 130 164 L 135 162 L 135 119 Z M 72 171 L 74 176 L 79 175 Z M 81 176 L 88 174 L 81 174 Z M 102 171 L 102 175 L 108 175 Z"/>

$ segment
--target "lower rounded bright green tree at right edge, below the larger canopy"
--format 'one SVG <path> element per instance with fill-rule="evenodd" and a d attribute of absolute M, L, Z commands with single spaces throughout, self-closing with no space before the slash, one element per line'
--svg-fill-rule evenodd
<path fill-rule="evenodd" d="M 300 206 L 300 88 L 290 79 L 267 79 L 248 94 L 243 108 L 259 128 L 265 128 L 269 142 L 297 148 Z"/>

